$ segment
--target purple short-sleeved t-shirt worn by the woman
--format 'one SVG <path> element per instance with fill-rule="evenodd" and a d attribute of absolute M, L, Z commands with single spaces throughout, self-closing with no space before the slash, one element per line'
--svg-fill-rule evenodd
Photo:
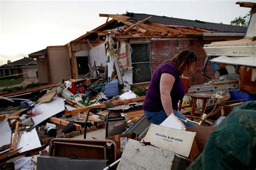
<path fill-rule="evenodd" d="M 172 62 L 165 62 L 159 65 L 156 70 L 154 70 L 149 88 L 147 89 L 145 101 L 142 106 L 143 110 L 158 112 L 164 109 L 160 97 L 160 78 L 161 74 L 163 73 L 168 73 L 175 77 L 175 82 L 171 91 L 171 97 L 172 108 L 174 110 L 178 110 L 178 102 L 185 95 L 185 87 L 180 80 L 177 67 L 174 66 Z"/>

